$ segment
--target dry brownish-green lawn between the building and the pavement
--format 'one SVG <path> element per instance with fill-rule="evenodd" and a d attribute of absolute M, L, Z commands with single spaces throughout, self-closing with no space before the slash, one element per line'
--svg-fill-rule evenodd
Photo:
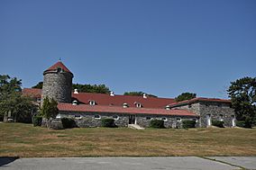
<path fill-rule="evenodd" d="M 256 129 L 48 130 L 0 123 L 0 157 L 256 156 Z"/>

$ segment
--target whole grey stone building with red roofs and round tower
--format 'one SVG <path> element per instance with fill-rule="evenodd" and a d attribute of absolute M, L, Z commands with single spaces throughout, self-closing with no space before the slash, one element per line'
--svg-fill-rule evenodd
<path fill-rule="evenodd" d="M 215 98 L 195 98 L 176 103 L 171 98 L 72 92 L 73 74 L 59 61 L 43 72 L 41 89 L 25 88 L 38 103 L 46 96 L 59 104 L 62 117 L 73 118 L 78 127 L 101 126 L 101 119 L 113 118 L 119 127 L 137 124 L 149 127 L 151 120 L 163 120 L 166 128 L 179 128 L 184 120 L 195 120 L 197 127 L 210 127 L 212 121 L 224 121 L 226 127 L 235 126 L 231 102 Z"/>

